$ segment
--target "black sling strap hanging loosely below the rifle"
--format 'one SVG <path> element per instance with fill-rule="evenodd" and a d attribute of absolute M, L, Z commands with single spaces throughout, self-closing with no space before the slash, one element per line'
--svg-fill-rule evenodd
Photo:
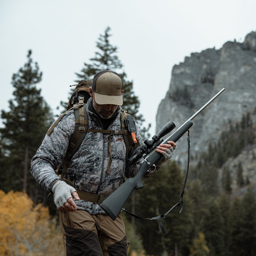
<path fill-rule="evenodd" d="M 165 214 L 160 214 L 159 216 L 156 216 L 156 217 L 153 217 L 153 218 L 143 218 L 143 217 L 140 217 L 140 216 L 138 216 L 138 215 L 136 215 L 136 214 L 134 214 L 134 213 L 132 213 L 132 212 L 128 212 L 127 210 L 125 210 L 124 208 L 122 208 L 122 210 L 123 210 L 124 212 L 130 214 L 132 217 L 135 217 L 135 218 L 137 218 L 137 219 L 158 220 L 159 227 L 161 228 L 162 233 L 163 233 L 164 236 L 167 235 L 167 232 L 166 232 L 166 230 L 165 230 L 165 228 L 164 228 L 162 219 L 165 219 L 165 218 L 167 217 L 167 215 L 168 215 L 173 209 L 177 209 L 180 205 L 181 205 L 181 209 L 180 209 L 180 212 L 179 212 L 179 213 L 181 213 L 182 210 L 183 210 L 183 206 L 184 206 L 182 199 L 183 199 L 183 194 L 184 194 L 184 192 L 185 192 L 185 187 L 186 187 L 186 183 L 187 183 L 187 179 L 188 179 L 189 155 L 190 155 L 190 153 L 189 153 L 189 152 L 190 152 L 189 130 L 188 130 L 188 138 L 187 138 L 187 141 L 188 141 L 188 165 L 187 165 L 187 173 L 186 173 L 186 177 L 185 177 L 185 180 L 184 180 L 183 188 L 182 188 L 181 193 L 180 193 L 180 202 L 177 203 L 177 204 L 175 204 L 175 205 L 173 205 L 172 208 L 171 208 L 168 212 L 166 212 Z"/>

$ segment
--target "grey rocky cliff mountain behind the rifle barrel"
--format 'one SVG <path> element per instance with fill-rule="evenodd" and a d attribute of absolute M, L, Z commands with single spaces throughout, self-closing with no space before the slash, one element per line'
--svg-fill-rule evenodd
<path fill-rule="evenodd" d="M 249 33 L 243 43 L 229 41 L 219 50 L 213 48 L 191 53 L 184 62 L 172 68 L 169 90 L 158 107 L 156 127 L 163 127 L 171 120 L 177 129 L 222 88 L 225 91 L 194 118 L 189 129 L 191 158 L 207 150 L 209 143 L 216 142 L 221 132 L 230 123 L 240 122 L 244 114 L 251 113 L 253 124 L 256 124 L 255 71 L 256 31 Z M 177 144 L 174 159 L 185 167 L 186 136 Z M 244 175 L 252 182 L 256 181 L 255 155 L 256 145 L 252 145 L 236 157 L 243 163 Z M 234 170 L 237 159 L 230 159 L 227 163 Z"/>

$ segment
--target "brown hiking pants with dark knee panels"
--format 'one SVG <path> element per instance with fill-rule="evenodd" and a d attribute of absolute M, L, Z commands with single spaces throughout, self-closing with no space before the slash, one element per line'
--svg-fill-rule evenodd
<path fill-rule="evenodd" d="M 60 228 L 67 256 L 127 256 L 121 213 L 113 221 L 108 215 L 83 210 L 60 211 Z"/>

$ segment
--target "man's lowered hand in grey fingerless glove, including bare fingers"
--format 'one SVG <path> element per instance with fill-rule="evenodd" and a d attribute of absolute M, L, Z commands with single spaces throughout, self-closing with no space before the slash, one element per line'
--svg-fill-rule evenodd
<path fill-rule="evenodd" d="M 75 212 L 77 206 L 72 198 L 80 200 L 76 189 L 69 186 L 65 181 L 58 180 L 52 187 L 54 193 L 54 203 L 63 212 Z"/>

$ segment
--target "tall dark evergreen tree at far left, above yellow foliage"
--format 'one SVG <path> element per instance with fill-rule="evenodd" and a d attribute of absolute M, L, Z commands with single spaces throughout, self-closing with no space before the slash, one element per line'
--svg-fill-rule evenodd
<path fill-rule="evenodd" d="M 30 160 L 40 146 L 52 123 L 50 108 L 36 88 L 42 79 L 32 51 L 28 61 L 12 76 L 14 98 L 9 100 L 9 111 L 1 111 L 4 128 L 1 133 L 2 172 L 0 187 L 4 191 L 28 192 L 38 199 L 38 185 L 30 173 Z"/>

